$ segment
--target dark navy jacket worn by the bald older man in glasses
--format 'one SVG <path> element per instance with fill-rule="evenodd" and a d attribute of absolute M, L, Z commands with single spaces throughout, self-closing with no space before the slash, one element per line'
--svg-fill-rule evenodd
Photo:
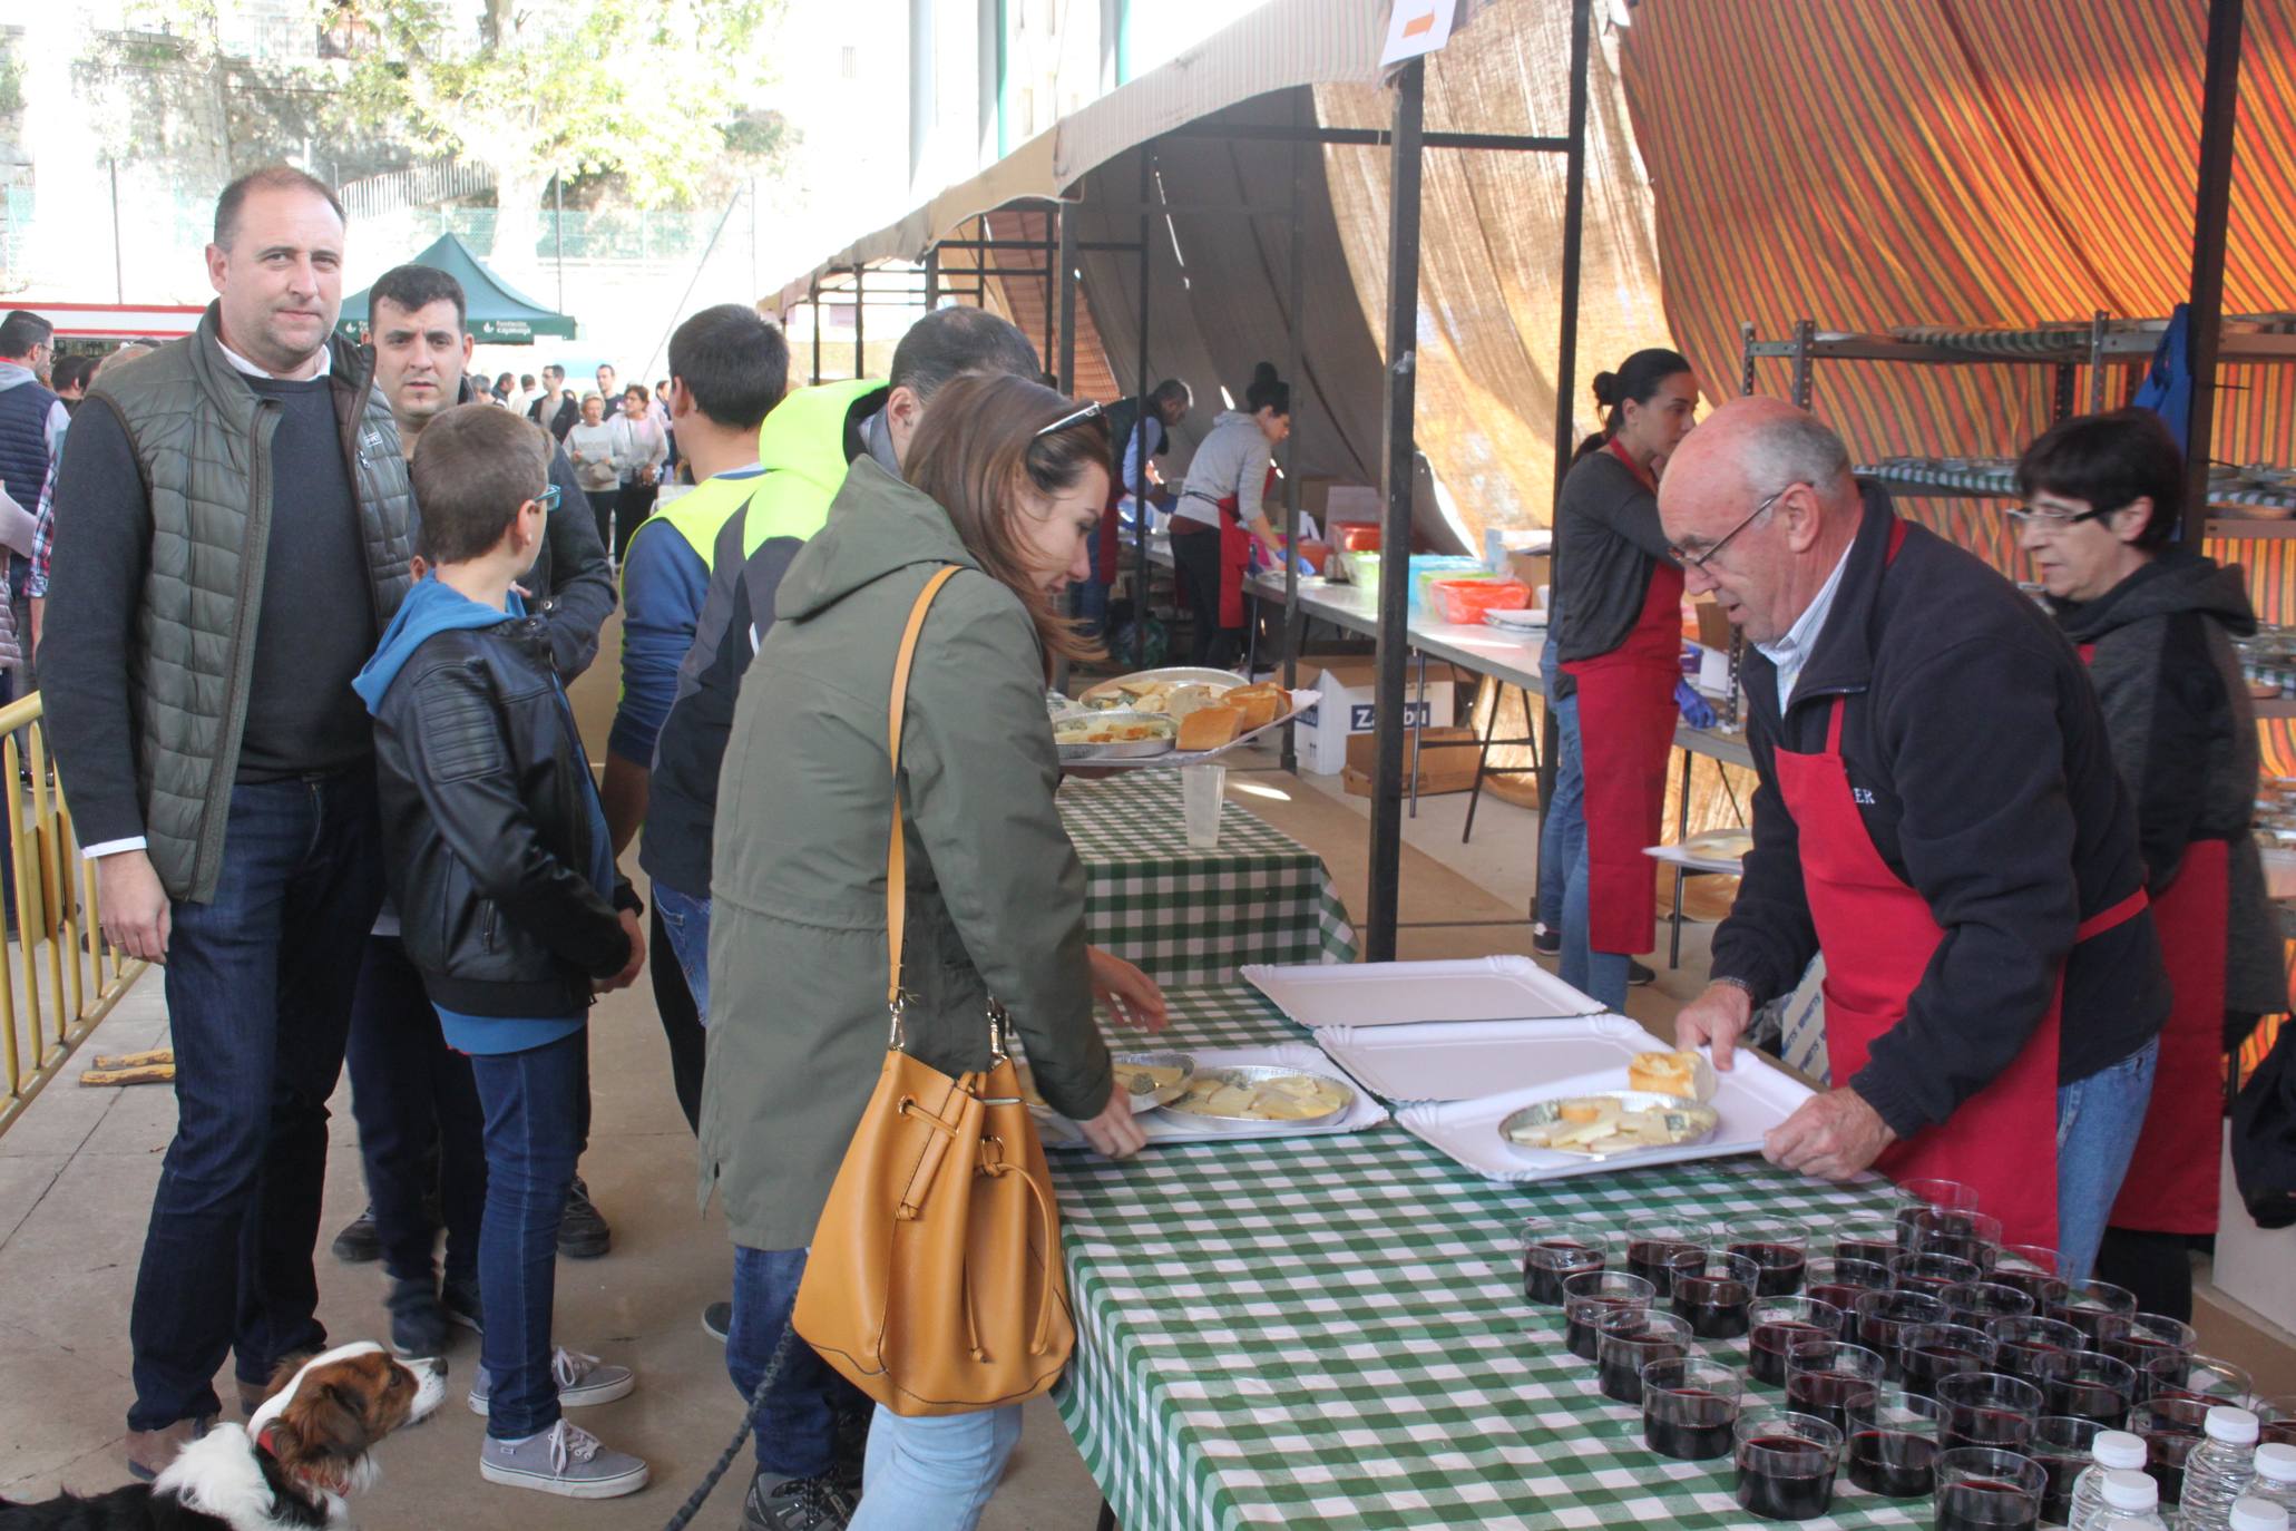
<path fill-rule="evenodd" d="M 1784 994 L 1818 950 L 1775 753 L 1841 757 L 1874 847 L 1945 939 L 1906 1017 L 1851 1086 L 1899 1134 L 1942 1122 L 2032 1037 L 2064 973 L 2060 1081 L 2158 1035 L 2167 978 L 2151 914 L 2073 946 L 2073 930 L 2144 884 L 2135 813 L 2080 656 L 2048 615 L 1970 553 L 1922 530 L 1885 565 L 1890 500 L 1867 491 L 1835 608 L 1779 716 L 1777 673 L 1745 656 L 1754 849 L 1713 973 Z M 1887 574 L 1887 576 L 1885 576 Z M 2071 957 L 2066 957 L 2071 953 Z"/>

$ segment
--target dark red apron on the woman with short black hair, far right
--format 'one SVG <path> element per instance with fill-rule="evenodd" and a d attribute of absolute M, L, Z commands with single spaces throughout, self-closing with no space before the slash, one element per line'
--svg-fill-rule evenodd
<path fill-rule="evenodd" d="M 2096 652 L 2080 645 L 2080 659 Z M 2161 1063 L 2128 1178 L 2112 1203 L 2115 1228 L 2216 1233 L 2225 1155 L 2225 941 L 2232 914 L 2232 845 L 2193 840 L 2177 881 L 2154 900 L 2170 1012 Z"/>

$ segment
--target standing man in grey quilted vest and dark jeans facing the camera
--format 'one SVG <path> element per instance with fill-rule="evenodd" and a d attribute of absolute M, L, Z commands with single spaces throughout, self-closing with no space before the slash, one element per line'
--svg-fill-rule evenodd
<path fill-rule="evenodd" d="M 177 1132 L 129 1315 L 154 1476 L 321 1350 L 326 1097 L 381 904 L 351 677 L 409 588 L 413 494 L 372 363 L 333 340 L 342 207 L 273 165 L 216 202 L 197 333 L 106 374 L 57 475 L 55 760 L 103 934 L 168 966 Z"/>

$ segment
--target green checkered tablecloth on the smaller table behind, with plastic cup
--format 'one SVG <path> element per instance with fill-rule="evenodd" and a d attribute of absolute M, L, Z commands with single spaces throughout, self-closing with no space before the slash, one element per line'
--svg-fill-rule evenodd
<path fill-rule="evenodd" d="M 1235 982 L 1247 962 L 1355 962 L 1322 858 L 1235 803 L 1219 806 L 1219 845 L 1189 849 L 1178 771 L 1068 780 L 1061 817 L 1093 943 L 1162 985 Z"/>

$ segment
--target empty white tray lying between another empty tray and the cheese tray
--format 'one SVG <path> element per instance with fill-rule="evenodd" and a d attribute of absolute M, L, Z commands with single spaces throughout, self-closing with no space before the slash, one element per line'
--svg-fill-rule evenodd
<path fill-rule="evenodd" d="M 1603 1072 L 1623 1090 L 1628 1060 L 1660 1049 L 1623 1015 L 1320 1026 L 1316 1044 L 1387 1099 L 1476 1099 Z"/>

